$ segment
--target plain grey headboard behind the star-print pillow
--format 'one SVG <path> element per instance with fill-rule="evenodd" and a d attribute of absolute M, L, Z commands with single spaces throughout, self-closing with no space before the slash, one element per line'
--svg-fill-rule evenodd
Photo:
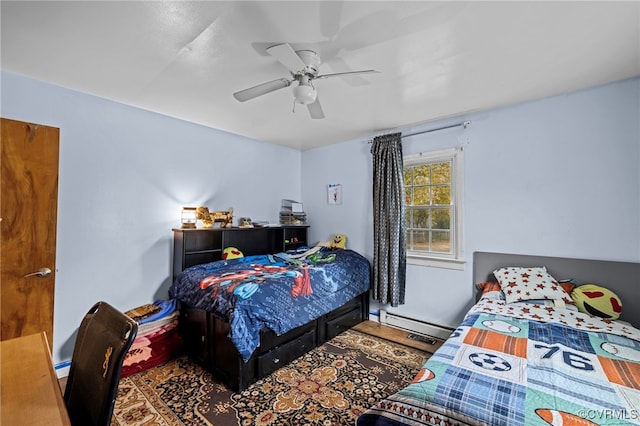
<path fill-rule="evenodd" d="M 507 266 L 545 266 L 557 280 L 573 279 L 577 285 L 598 284 L 616 293 L 622 300 L 620 320 L 640 328 L 640 263 L 566 257 L 475 252 L 473 283 L 496 281 L 493 271 Z"/>

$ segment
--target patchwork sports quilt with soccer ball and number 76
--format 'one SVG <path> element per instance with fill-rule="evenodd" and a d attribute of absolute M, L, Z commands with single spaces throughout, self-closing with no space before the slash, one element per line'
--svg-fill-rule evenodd
<path fill-rule="evenodd" d="M 482 298 L 369 425 L 640 424 L 640 330 Z"/>

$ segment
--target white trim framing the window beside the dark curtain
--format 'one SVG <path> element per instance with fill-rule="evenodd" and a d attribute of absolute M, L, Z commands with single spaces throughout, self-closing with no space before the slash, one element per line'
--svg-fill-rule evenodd
<path fill-rule="evenodd" d="M 463 250 L 463 192 L 464 173 L 462 164 L 462 148 L 450 148 L 434 152 L 421 152 L 419 154 L 407 155 L 404 157 L 404 166 L 413 166 L 424 162 L 447 161 L 451 159 L 453 163 L 453 174 L 451 176 L 451 186 L 454 189 L 454 220 L 456 223 L 454 231 L 453 253 L 436 254 L 407 250 L 407 264 L 417 266 L 428 266 L 434 268 L 446 268 L 464 270 L 464 250 Z"/>

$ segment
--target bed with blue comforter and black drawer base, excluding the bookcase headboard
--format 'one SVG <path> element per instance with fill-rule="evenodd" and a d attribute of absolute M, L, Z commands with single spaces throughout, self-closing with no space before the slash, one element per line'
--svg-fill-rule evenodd
<path fill-rule="evenodd" d="M 370 263 L 314 248 L 192 266 L 170 289 L 187 352 L 240 391 L 368 317 Z"/>

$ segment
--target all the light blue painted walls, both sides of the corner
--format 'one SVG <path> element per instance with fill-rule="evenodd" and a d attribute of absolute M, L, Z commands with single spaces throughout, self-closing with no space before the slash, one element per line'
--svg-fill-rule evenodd
<path fill-rule="evenodd" d="M 311 241 L 334 233 L 371 259 L 366 140 L 300 153 L 2 72 L 3 117 L 61 129 L 54 362 L 97 300 L 126 310 L 166 297 L 171 228 L 183 205 L 277 221 L 304 202 Z M 474 251 L 640 261 L 640 80 L 405 133 L 405 153 L 463 146 L 464 271 L 410 266 L 407 303 L 389 309 L 455 326 L 473 299 Z M 250 173 L 247 171 L 250 170 Z M 301 171 L 302 170 L 302 171 Z M 326 185 L 343 185 L 327 204 Z M 639 292 L 640 295 L 640 292 Z M 375 303 L 375 311 L 380 306 Z"/>

